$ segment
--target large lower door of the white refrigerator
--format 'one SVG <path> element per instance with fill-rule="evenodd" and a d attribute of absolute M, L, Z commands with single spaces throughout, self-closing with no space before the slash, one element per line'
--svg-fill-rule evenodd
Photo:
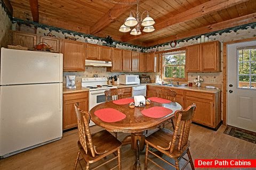
<path fill-rule="evenodd" d="M 62 137 L 62 83 L 0 91 L 0 156 Z"/>

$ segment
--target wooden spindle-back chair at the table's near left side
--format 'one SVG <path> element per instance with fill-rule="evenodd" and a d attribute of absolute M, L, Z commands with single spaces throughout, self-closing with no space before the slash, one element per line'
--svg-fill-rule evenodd
<path fill-rule="evenodd" d="M 97 166 L 97 168 L 117 158 L 118 165 L 113 167 L 113 169 L 118 167 L 118 169 L 121 170 L 121 150 L 120 149 L 122 146 L 122 142 L 117 140 L 112 134 L 110 134 L 106 130 L 102 130 L 100 132 L 91 134 L 89 129 L 89 121 L 90 121 L 89 113 L 85 111 L 81 111 L 81 109 L 78 108 L 77 104 L 75 104 L 75 111 L 77 116 L 79 140 L 77 142 L 78 152 L 77 152 L 74 169 L 76 169 L 78 162 L 81 165 L 79 160 L 80 155 L 82 155 L 83 159 L 85 160 L 86 170 L 88 170 L 90 164 L 95 163 L 98 160 L 105 158 L 106 156 L 112 153 L 114 155 L 115 151 L 117 151 L 117 156 L 114 155 L 114 158 L 111 158 L 105 163 L 100 164 L 99 166 Z"/>

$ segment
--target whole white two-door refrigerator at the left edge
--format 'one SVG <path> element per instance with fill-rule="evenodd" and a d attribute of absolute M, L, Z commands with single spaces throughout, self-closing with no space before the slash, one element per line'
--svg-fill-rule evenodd
<path fill-rule="evenodd" d="M 62 62 L 62 54 L 1 48 L 1 158 L 62 138 Z"/>

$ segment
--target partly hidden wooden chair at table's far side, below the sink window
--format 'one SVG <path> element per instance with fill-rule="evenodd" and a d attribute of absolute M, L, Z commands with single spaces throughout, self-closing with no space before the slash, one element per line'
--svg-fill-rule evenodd
<path fill-rule="evenodd" d="M 175 101 L 175 97 L 177 95 L 177 92 L 174 90 L 171 90 L 169 88 L 164 89 L 156 89 L 157 97 L 161 97 L 164 99 L 169 99 L 171 101 Z M 167 120 L 168 123 L 172 123 L 172 128 L 174 130 L 174 123 L 173 119 Z M 165 128 L 165 123 L 163 123 L 163 128 Z"/>

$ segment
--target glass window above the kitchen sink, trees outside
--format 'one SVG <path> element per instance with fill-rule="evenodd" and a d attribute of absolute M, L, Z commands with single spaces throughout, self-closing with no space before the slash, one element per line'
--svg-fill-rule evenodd
<path fill-rule="evenodd" d="M 187 78 L 186 51 L 163 54 L 163 78 L 185 80 Z"/>

